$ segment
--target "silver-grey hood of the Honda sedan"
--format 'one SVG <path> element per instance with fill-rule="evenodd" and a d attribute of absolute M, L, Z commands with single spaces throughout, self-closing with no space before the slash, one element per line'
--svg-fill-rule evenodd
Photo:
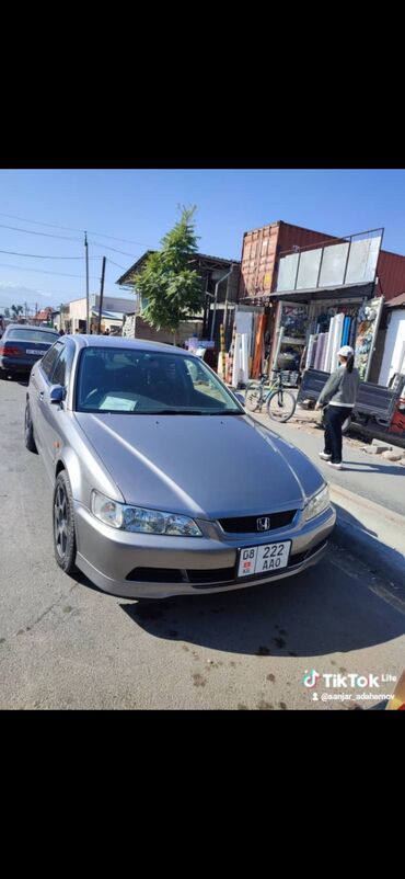
<path fill-rule="evenodd" d="M 201 518 L 302 507 L 324 484 L 296 446 L 248 415 L 77 412 L 125 501 Z"/>

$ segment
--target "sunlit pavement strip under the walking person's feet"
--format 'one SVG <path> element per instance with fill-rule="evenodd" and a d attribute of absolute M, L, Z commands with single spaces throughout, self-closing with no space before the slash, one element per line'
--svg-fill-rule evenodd
<path fill-rule="evenodd" d="M 297 409 L 297 418 L 287 424 L 275 424 L 267 415 L 252 413 L 253 418 L 275 430 L 285 440 L 305 453 L 328 482 L 383 504 L 387 510 L 405 515 L 405 467 L 384 460 L 381 455 L 360 452 L 358 440 L 344 438 L 344 470 L 334 470 L 319 457 L 323 449 L 323 431 L 311 425 L 305 413 Z M 312 413 L 311 413 L 312 414 Z M 314 415 L 315 418 L 316 415 Z"/>

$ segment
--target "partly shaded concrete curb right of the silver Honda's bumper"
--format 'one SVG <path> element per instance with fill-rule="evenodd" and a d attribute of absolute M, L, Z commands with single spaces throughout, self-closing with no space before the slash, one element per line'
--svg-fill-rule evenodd
<path fill-rule="evenodd" d="M 337 512 L 332 540 L 391 582 L 405 597 L 405 516 L 329 483 Z"/>

